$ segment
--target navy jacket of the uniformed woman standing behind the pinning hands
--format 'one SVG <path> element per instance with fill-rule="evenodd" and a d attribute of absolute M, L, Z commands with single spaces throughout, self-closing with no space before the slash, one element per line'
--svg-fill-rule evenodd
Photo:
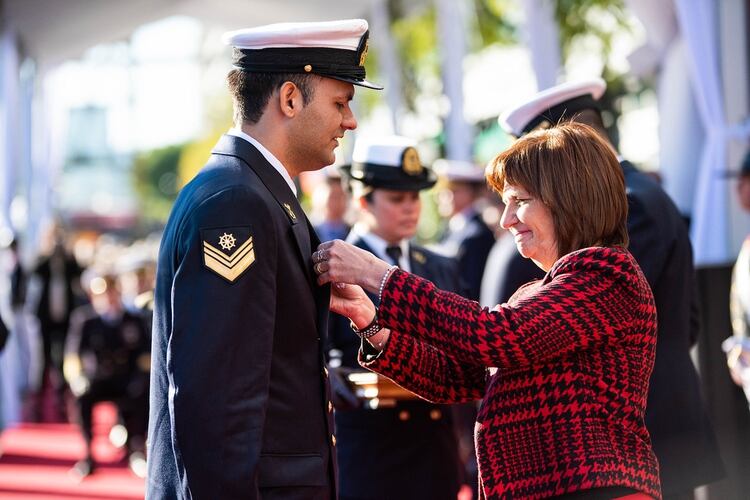
<path fill-rule="evenodd" d="M 355 246 L 372 250 L 357 239 Z M 410 245 L 411 270 L 444 290 L 458 290 L 455 261 Z M 377 304 L 377 298 L 375 299 Z M 331 315 L 329 348 L 342 351 L 342 366 L 357 363 L 359 338 L 349 320 Z M 342 500 L 455 500 L 463 475 L 452 407 L 400 401 L 393 408 L 336 410 Z"/>

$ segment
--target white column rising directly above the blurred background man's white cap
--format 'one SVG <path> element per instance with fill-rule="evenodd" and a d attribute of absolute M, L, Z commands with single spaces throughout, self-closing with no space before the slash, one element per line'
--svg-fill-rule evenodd
<path fill-rule="evenodd" d="M 437 0 L 437 26 L 442 58 L 443 93 L 450 102 L 445 117 L 445 156 L 471 160 L 473 133 L 464 118 L 463 61 L 466 55 L 465 0 Z"/>

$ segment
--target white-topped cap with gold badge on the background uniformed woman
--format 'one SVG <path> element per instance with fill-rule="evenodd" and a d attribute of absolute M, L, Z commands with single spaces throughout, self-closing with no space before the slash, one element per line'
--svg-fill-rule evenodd
<path fill-rule="evenodd" d="M 341 167 L 352 184 L 394 191 L 421 191 L 437 182 L 435 173 L 422 165 L 416 142 L 390 136 L 358 139 L 352 164 Z M 356 192 L 356 190 L 355 190 Z"/>

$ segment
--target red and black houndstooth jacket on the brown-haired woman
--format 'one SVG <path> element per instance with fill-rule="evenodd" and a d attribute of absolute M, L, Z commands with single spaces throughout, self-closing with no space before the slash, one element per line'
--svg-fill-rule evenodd
<path fill-rule="evenodd" d="M 643 422 L 656 309 L 626 250 L 570 253 L 493 310 L 396 270 L 380 322 L 390 339 L 363 366 L 430 401 L 483 398 L 480 497 L 610 486 L 661 497 Z"/>

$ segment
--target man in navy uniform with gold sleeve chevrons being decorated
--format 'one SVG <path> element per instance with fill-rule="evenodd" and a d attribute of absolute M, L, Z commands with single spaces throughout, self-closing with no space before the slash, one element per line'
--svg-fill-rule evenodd
<path fill-rule="evenodd" d="M 357 122 L 364 20 L 227 33 L 235 126 L 180 192 L 154 304 L 147 498 L 333 499 L 330 289 L 293 178 Z"/>

